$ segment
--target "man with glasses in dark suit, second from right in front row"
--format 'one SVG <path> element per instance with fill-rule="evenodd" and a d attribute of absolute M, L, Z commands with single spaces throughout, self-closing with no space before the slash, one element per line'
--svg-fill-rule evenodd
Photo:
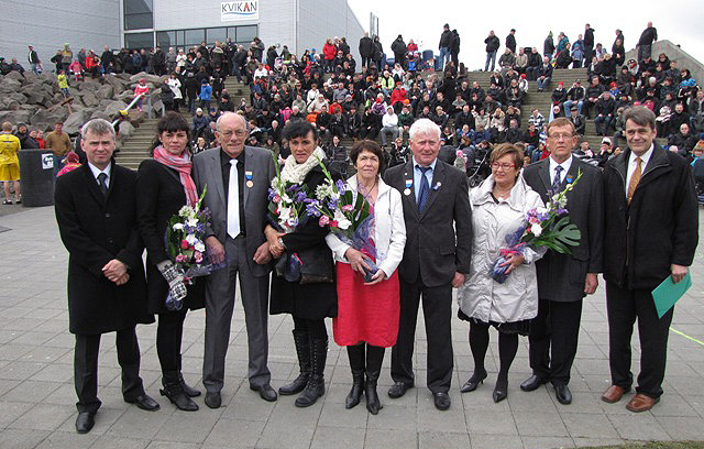
<path fill-rule="evenodd" d="M 530 324 L 532 375 L 520 388 L 530 392 L 551 382 L 558 401 L 570 404 L 568 383 L 576 354 L 582 299 L 596 291 L 597 273 L 602 272 L 604 188 L 600 169 L 572 156 L 579 138 L 569 119 L 556 119 L 547 133 L 550 157 L 528 165 L 524 179 L 547 204 L 581 172 L 582 177 L 566 195 L 566 209 L 582 238 L 572 254 L 548 251 L 536 262 L 540 300 L 538 316 Z"/>

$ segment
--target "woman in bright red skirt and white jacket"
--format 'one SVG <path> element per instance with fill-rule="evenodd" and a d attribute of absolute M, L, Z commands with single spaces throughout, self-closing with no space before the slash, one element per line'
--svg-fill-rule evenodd
<path fill-rule="evenodd" d="M 384 153 L 376 142 L 358 142 L 350 152 L 356 175 L 348 179 L 354 195 L 363 195 L 371 205 L 370 232 L 375 254 L 355 250 L 332 233 L 326 241 L 337 261 L 338 317 L 333 319 L 334 341 L 348 347 L 352 369 L 352 390 L 345 408 L 366 395 L 366 408 L 376 415 L 382 404 L 376 381 L 382 370 L 384 349 L 396 343 L 399 316 L 399 284 L 396 267 L 404 256 L 406 226 L 400 193 L 386 185 L 380 168 Z M 369 261 L 378 267 L 370 282 L 364 281 Z M 366 373 L 366 383 L 364 375 Z"/>

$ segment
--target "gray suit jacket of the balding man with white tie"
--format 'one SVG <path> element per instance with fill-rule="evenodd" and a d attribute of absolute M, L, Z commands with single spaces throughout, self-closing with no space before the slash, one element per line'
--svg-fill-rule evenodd
<path fill-rule="evenodd" d="M 207 186 L 204 206 L 210 209 L 210 230 L 223 245 L 228 233 L 228 190 L 222 183 L 220 147 L 206 150 L 194 156 L 193 177 L 198 194 Z M 254 146 L 244 147 L 244 172 L 252 172 L 252 187 L 244 183 L 244 230 L 246 234 L 246 261 L 255 276 L 265 276 L 272 271 L 271 264 L 254 262 L 254 252 L 266 241 L 264 228 L 268 207 L 268 187 L 275 175 L 274 160 L 268 150 Z"/>

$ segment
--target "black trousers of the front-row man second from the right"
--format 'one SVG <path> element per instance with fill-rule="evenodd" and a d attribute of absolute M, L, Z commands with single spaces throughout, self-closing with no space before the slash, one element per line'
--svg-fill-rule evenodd
<path fill-rule="evenodd" d="M 530 368 L 553 385 L 570 383 L 570 370 L 580 336 L 582 303 L 540 299 L 538 316 L 530 322 Z"/>

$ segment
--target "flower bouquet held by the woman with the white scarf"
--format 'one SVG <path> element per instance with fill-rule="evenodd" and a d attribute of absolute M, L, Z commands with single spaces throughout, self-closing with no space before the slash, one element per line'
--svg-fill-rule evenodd
<path fill-rule="evenodd" d="M 276 156 L 272 153 L 276 176 L 268 189 L 268 219 L 282 232 L 293 232 L 302 219 L 304 200 L 308 198 L 308 187 L 302 179 L 284 179 Z"/>

